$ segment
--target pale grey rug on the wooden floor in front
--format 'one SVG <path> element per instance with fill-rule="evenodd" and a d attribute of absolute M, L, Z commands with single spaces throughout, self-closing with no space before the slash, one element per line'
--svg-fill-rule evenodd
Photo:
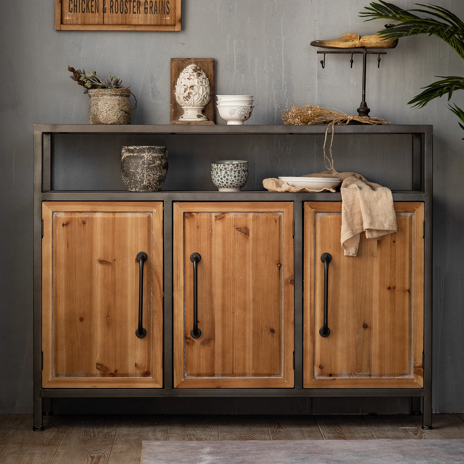
<path fill-rule="evenodd" d="M 141 464 L 463 464 L 464 440 L 144 441 Z"/>

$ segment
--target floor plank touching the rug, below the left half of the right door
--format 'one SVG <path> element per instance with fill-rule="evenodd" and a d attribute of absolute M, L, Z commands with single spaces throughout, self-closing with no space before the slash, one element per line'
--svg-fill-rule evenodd
<path fill-rule="evenodd" d="M 362 416 L 315 416 L 325 440 L 374 440 Z"/>

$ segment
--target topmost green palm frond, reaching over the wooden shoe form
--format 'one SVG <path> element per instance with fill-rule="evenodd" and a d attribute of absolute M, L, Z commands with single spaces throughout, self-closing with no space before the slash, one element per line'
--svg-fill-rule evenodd
<path fill-rule="evenodd" d="M 384 39 L 401 39 L 411 35 L 429 34 L 436 35 L 447 42 L 464 59 L 464 23 L 451 11 L 437 5 L 424 5 L 416 3 L 423 8 L 404 10 L 400 7 L 379 0 L 380 3 L 371 2 L 366 6 L 367 11 L 362 11 L 359 15 L 371 21 L 372 19 L 388 19 L 389 21 L 399 21 L 400 24 L 382 29 L 378 33 Z M 425 17 L 414 13 L 421 13 Z M 428 15 L 428 16 L 427 16 Z"/>

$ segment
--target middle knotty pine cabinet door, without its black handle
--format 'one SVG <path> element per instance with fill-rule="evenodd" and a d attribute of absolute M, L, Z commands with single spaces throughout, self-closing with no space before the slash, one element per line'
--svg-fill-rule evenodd
<path fill-rule="evenodd" d="M 293 203 L 174 204 L 174 387 L 293 387 L 292 225 Z"/>

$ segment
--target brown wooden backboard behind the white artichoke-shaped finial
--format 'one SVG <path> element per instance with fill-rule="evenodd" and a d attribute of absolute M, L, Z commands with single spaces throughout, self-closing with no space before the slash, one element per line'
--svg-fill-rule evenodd
<path fill-rule="evenodd" d="M 207 121 L 179 121 L 184 111 L 175 99 L 175 85 L 180 73 L 189 65 L 197 64 L 206 74 L 209 80 L 211 98 L 203 110 L 203 114 L 208 118 Z M 171 124 L 214 124 L 214 58 L 171 58 Z"/>

